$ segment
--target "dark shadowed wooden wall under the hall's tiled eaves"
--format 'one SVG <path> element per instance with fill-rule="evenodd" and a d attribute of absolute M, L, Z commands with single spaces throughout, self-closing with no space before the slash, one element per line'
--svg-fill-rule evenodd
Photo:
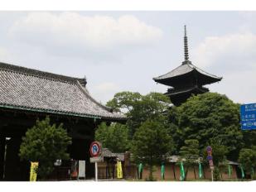
<path fill-rule="evenodd" d="M 89 163 L 89 145 L 94 141 L 94 130 L 101 122 L 99 119 L 0 108 L 0 180 L 29 180 L 30 165 L 28 161 L 20 160 L 19 148 L 27 129 L 36 124 L 36 119 L 44 119 L 46 115 L 50 116 L 51 123 L 64 124 L 72 137 L 72 145 L 67 150 L 70 158 L 85 160 L 86 176 L 94 176 L 94 165 Z"/>

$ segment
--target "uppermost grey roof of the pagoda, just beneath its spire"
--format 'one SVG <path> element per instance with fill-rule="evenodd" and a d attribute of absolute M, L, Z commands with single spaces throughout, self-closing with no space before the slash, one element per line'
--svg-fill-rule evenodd
<path fill-rule="evenodd" d="M 171 70 L 167 74 L 162 74 L 159 77 L 153 78 L 157 83 L 166 84 L 166 85 L 173 85 L 172 79 L 179 79 L 182 76 L 185 76 L 186 74 L 195 73 L 197 75 L 202 76 L 205 79 L 205 84 L 212 84 L 217 81 L 220 81 L 222 77 L 217 77 L 214 74 L 209 74 L 205 72 L 204 70 L 200 70 L 200 68 L 196 67 L 195 65 L 192 65 L 191 61 L 185 60 L 182 65 L 176 67 L 176 69 Z"/>

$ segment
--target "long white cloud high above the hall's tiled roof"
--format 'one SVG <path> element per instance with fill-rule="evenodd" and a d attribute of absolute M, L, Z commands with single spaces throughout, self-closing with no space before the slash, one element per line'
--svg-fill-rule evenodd
<path fill-rule="evenodd" d="M 148 45 L 162 38 L 161 29 L 133 15 L 89 17 L 77 12 L 31 12 L 15 22 L 9 33 L 16 40 L 46 49 L 61 46 L 109 50 L 115 46 Z"/>

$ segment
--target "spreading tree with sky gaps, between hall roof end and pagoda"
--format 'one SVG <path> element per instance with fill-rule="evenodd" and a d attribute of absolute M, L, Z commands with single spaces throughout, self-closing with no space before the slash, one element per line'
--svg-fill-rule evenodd
<path fill-rule="evenodd" d="M 141 95 L 133 92 L 121 92 L 114 95 L 106 105 L 114 108 L 114 111 L 125 113 L 128 117 L 127 126 L 130 138 L 134 132 L 148 118 L 157 118 L 157 116 L 166 113 L 170 99 L 160 93 L 150 93 Z"/>

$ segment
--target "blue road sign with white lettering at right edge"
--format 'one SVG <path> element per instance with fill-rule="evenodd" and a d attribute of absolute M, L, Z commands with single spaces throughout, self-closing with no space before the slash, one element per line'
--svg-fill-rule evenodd
<path fill-rule="evenodd" d="M 240 115 L 242 130 L 256 130 L 256 103 L 241 105 Z"/>

